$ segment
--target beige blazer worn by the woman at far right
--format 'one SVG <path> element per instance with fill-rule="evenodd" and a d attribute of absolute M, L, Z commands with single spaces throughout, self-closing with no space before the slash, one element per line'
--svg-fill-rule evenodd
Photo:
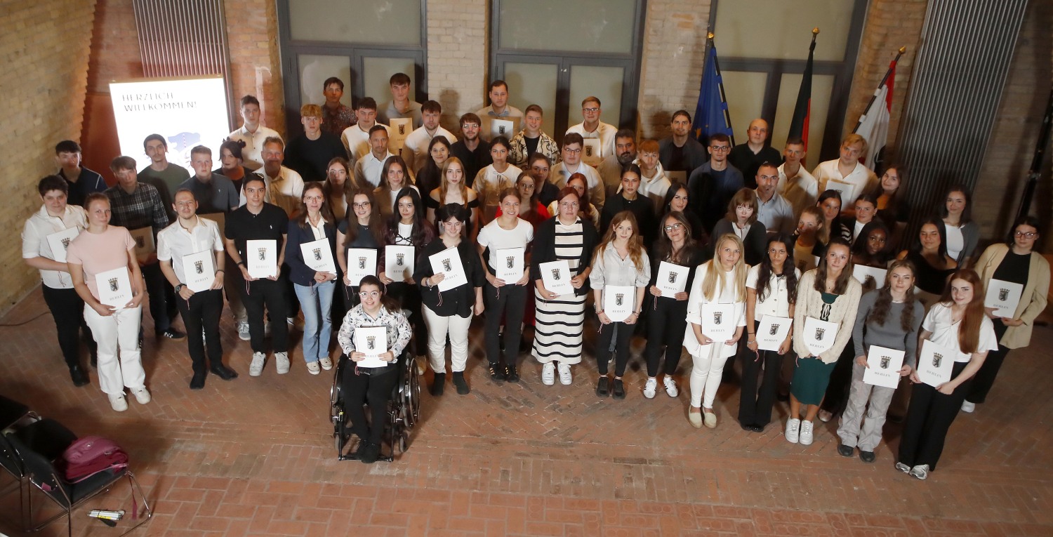
<path fill-rule="evenodd" d="M 1009 246 L 1005 243 L 991 244 L 976 261 L 975 268 L 979 273 L 980 279 L 984 280 L 985 289 L 988 282 L 994 278 L 994 272 L 1001 264 L 1001 260 L 1006 258 L 1008 252 Z M 1028 346 L 1028 343 L 1031 342 L 1031 329 L 1035 323 L 1035 317 L 1038 317 L 1038 314 L 1046 309 L 1049 292 L 1050 263 L 1041 254 L 1032 252 L 1031 264 L 1028 266 L 1028 284 L 1024 286 L 1020 303 L 1016 306 L 1016 313 L 1013 314 L 1013 318 L 1020 319 L 1024 324 L 1009 326 L 999 343 L 1008 349 Z"/>

